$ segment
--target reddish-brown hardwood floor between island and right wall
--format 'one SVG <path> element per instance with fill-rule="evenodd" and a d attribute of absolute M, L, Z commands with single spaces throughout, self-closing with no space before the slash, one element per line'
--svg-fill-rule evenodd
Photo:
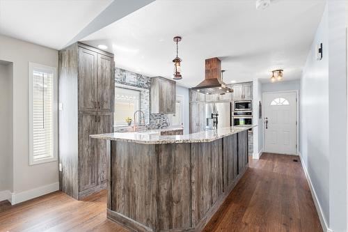
<path fill-rule="evenodd" d="M 248 171 L 204 231 L 322 231 L 299 157 L 249 159 Z"/>

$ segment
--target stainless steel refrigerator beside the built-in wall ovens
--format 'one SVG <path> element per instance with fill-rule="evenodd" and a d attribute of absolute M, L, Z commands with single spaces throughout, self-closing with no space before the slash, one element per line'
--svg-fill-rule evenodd
<path fill-rule="evenodd" d="M 231 126 L 231 103 L 218 102 L 205 104 L 205 129 L 214 130 Z"/>

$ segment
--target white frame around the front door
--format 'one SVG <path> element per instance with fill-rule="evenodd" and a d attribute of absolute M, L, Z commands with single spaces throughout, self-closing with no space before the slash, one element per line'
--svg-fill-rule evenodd
<path fill-rule="evenodd" d="M 265 149 L 265 141 L 266 141 L 266 130 L 264 127 L 264 112 L 266 112 L 266 110 L 264 109 L 265 105 L 264 105 L 264 95 L 267 94 L 271 94 L 271 93 L 295 93 L 296 94 L 296 154 L 295 155 L 299 155 L 299 91 L 298 90 L 292 90 L 292 91 L 267 91 L 267 92 L 262 92 L 262 123 L 263 123 L 263 127 L 262 127 L 262 135 L 263 135 L 263 152 L 267 153 L 267 150 Z M 285 154 L 286 155 L 286 154 Z"/>

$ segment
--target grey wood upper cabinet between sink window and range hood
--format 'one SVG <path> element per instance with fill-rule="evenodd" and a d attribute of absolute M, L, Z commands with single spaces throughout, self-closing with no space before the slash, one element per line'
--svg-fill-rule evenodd
<path fill-rule="evenodd" d="M 150 88 L 151 114 L 175 114 L 176 82 L 152 77 Z"/>

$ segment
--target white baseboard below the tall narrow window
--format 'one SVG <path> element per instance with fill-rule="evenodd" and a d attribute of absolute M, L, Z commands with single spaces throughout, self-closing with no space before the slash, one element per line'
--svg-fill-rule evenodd
<path fill-rule="evenodd" d="M 23 201 L 28 201 L 30 199 L 34 199 L 35 197 L 49 194 L 51 192 L 56 192 L 58 190 L 59 190 L 59 183 L 56 182 L 56 183 L 53 183 L 50 185 L 37 187 L 33 190 L 27 190 L 24 192 L 13 193 L 12 199 L 10 202 L 11 202 L 11 204 L 15 205 L 17 203 L 21 203 Z"/>

